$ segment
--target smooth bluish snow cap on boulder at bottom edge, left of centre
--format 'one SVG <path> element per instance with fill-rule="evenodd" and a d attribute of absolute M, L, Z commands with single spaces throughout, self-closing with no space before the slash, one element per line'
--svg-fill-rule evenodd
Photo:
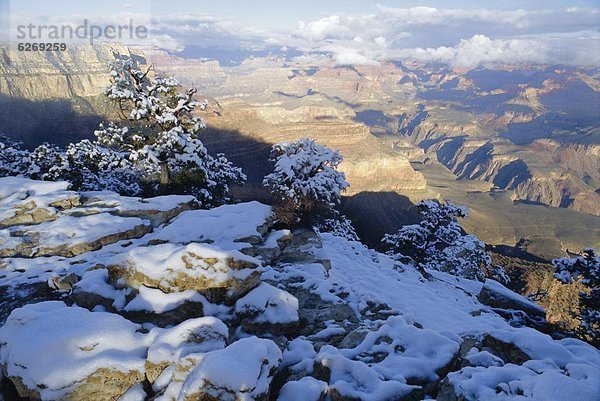
<path fill-rule="evenodd" d="M 281 351 L 267 339 L 248 337 L 204 354 L 183 384 L 182 394 L 207 392 L 223 401 L 249 401 L 269 389 Z"/>

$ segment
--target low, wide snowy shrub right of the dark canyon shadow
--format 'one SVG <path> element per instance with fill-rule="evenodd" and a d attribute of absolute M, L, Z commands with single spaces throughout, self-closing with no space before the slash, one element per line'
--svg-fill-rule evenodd
<path fill-rule="evenodd" d="M 417 208 L 423 217 L 419 224 L 404 226 L 382 239 L 389 253 L 408 257 L 419 267 L 483 280 L 483 269 L 491 258 L 485 244 L 458 224 L 457 218 L 465 217 L 467 209 L 434 200 L 421 201 Z"/>

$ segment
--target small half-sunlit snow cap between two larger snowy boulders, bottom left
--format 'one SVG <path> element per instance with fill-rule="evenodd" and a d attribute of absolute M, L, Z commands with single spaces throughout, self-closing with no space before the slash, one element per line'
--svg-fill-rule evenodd
<path fill-rule="evenodd" d="M 222 349 L 229 336 L 225 323 L 210 316 L 189 319 L 170 329 L 155 331 L 158 335 L 148 349 L 147 358 L 155 364 L 176 362 L 192 353 Z"/>

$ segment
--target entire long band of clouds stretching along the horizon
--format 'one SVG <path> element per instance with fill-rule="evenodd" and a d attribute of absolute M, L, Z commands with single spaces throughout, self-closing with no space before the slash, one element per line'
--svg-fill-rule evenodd
<path fill-rule="evenodd" d="M 218 16 L 157 15 L 143 10 L 138 15 L 128 11 L 95 16 L 93 22 L 123 22 L 129 17 L 149 24 L 152 44 L 173 51 L 194 46 L 244 54 L 327 53 L 340 65 L 375 65 L 402 58 L 452 66 L 600 64 L 600 8 L 491 10 L 379 5 L 368 14 L 334 14 L 270 31 Z M 47 19 L 53 23 L 57 20 Z M 64 20 L 70 24 L 81 22 L 74 16 Z"/>

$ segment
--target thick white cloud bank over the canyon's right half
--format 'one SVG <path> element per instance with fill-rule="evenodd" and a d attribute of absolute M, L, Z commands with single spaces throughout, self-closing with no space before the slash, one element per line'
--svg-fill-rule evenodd
<path fill-rule="evenodd" d="M 600 9 L 489 10 L 377 6 L 362 16 L 301 22 L 295 46 L 332 53 L 336 62 L 374 64 L 416 58 L 476 66 L 491 63 L 597 65 Z"/>

